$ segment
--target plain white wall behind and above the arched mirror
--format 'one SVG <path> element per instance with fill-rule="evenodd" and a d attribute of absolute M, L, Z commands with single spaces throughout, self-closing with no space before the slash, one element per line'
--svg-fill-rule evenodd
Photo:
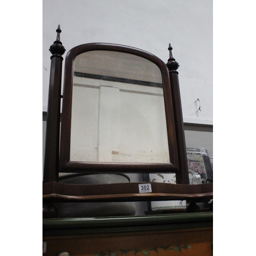
<path fill-rule="evenodd" d="M 76 45 L 112 42 L 143 49 L 167 62 L 170 42 L 180 65 L 184 121 L 212 124 L 211 0 L 44 0 L 42 4 L 43 111 L 48 101 L 49 47 L 60 24 L 64 58 Z M 195 102 L 197 98 L 200 102 Z"/>

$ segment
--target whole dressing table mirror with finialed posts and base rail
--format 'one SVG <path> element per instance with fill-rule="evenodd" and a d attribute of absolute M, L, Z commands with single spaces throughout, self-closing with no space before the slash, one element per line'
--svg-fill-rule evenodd
<path fill-rule="evenodd" d="M 43 216 L 57 216 L 55 202 L 211 200 L 212 183 L 189 185 L 179 65 L 172 47 L 164 63 L 151 53 L 123 45 L 76 46 L 66 56 L 62 96 L 65 48 L 60 27 L 56 31 L 50 48 Z M 175 173 L 177 184 L 70 185 L 58 182 L 60 173 Z M 150 186 L 147 193 L 139 190 L 143 184 Z"/>

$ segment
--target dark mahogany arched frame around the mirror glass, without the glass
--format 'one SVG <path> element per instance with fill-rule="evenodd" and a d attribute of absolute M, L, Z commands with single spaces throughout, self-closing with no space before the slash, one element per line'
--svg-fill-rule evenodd
<path fill-rule="evenodd" d="M 70 161 L 72 88 L 75 58 L 89 51 L 116 51 L 134 54 L 152 61 L 162 74 L 167 140 L 170 163 L 119 163 Z M 146 51 L 116 44 L 89 43 L 74 47 L 66 56 L 63 81 L 59 172 L 63 173 L 178 173 L 179 161 L 169 71 L 157 56 Z"/>

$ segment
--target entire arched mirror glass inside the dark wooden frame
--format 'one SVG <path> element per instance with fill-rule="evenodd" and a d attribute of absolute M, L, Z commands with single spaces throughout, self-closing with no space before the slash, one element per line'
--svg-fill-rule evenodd
<path fill-rule="evenodd" d="M 116 51 L 75 58 L 70 160 L 169 163 L 162 76 L 155 63 Z"/>

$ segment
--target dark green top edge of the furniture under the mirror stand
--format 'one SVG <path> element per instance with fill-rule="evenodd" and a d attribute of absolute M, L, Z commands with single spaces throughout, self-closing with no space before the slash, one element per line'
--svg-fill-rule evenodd
<path fill-rule="evenodd" d="M 212 227 L 213 212 L 152 216 L 43 219 L 43 236 Z"/>

